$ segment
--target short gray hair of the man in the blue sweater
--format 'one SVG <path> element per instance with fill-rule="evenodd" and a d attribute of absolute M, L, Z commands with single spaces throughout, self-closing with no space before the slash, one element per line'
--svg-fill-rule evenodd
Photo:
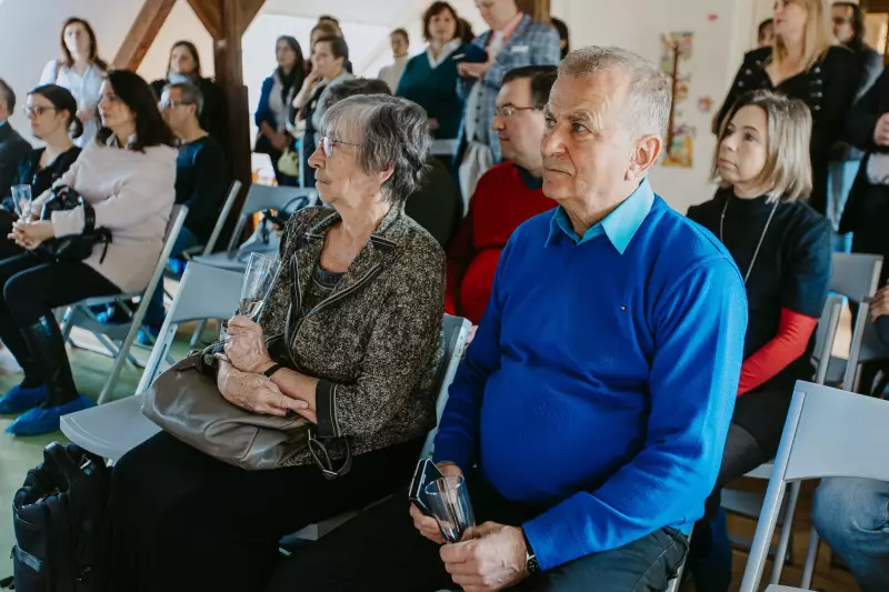
<path fill-rule="evenodd" d="M 672 102 L 670 78 L 632 51 L 590 46 L 576 49 L 559 66 L 559 76 L 586 78 L 620 69 L 630 79 L 622 120 L 635 138 L 663 136 Z"/>

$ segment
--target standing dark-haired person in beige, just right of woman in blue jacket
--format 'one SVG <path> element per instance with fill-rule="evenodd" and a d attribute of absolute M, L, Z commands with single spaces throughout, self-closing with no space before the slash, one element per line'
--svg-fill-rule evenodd
<path fill-rule="evenodd" d="M 297 108 L 297 120 L 306 122 L 302 136 L 302 162 L 300 173 L 304 177 L 306 187 L 314 187 L 314 169 L 309 167 L 309 157 L 316 148 L 317 130 L 321 123 L 323 109 L 319 107 L 324 90 L 342 80 L 354 78 L 347 70 L 349 63 L 349 46 L 341 37 L 322 37 L 312 46 L 312 71 L 302 82 L 302 88 L 293 99 Z"/>

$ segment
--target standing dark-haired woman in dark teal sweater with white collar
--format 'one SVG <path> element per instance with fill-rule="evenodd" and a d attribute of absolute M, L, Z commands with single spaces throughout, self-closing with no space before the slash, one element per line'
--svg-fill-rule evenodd
<path fill-rule="evenodd" d="M 463 101 L 457 94 L 457 61 L 463 53 L 460 39 L 460 18 L 448 2 L 433 2 L 423 13 L 426 51 L 410 59 L 401 74 L 396 94 L 409 99 L 429 114 L 429 126 L 436 140 L 453 140 L 460 131 Z M 453 153 L 432 149 L 432 153 Z"/>

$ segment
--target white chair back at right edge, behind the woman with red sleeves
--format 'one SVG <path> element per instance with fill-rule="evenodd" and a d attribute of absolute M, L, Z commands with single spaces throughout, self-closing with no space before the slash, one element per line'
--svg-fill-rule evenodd
<path fill-rule="evenodd" d="M 832 358 L 828 368 L 826 384 L 842 385 L 856 390 L 858 365 L 862 361 L 861 342 L 868 325 L 868 302 L 877 292 L 882 270 L 882 255 L 863 253 L 833 253 L 833 273 L 830 291 L 842 294 L 850 302 L 859 304 L 852 323 L 852 342 L 848 360 Z"/>

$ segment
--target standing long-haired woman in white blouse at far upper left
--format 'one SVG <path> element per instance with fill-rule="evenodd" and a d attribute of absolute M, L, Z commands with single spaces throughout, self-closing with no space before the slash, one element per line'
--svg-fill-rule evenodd
<path fill-rule="evenodd" d="M 90 23 L 83 19 L 68 19 L 62 27 L 61 56 L 43 68 L 40 84 L 58 84 L 74 96 L 77 117 L 83 123 L 83 134 L 74 143 L 81 148 L 99 131 L 99 97 L 107 70 L 108 64 L 99 58 Z"/>

